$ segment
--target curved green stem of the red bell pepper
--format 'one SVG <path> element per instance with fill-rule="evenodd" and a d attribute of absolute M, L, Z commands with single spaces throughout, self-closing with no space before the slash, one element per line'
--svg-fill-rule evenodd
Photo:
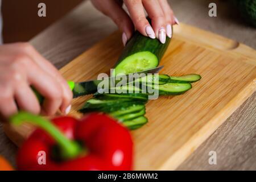
<path fill-rule="evenodd" d="M 20 125 L 24 122 L 32 123 L 47 131 L 47 133 L 60 145 L 62 149 L 61 155 L 63 155 L 63 158 L 65 159 L 75 158 L 77 155 L 81 154 L 82 150 L 79 144 L 65 137 L 65 135 L 48 119 L 24 111 L 19 111 L 19 113 L 10 118 L 10 121 L 15 125 Z"/>

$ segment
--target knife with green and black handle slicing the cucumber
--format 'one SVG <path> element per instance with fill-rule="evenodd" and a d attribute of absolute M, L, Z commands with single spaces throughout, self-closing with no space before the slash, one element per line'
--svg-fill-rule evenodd
<path fill-rule="evenodd" d="M 130 73 L 128 75 L 123 75 L 126 77 L 127 82 L 131 82 L 136 80 L 137 78 L 141 78 L 146 76 L 146 74 L 154 74 L 154 73 L 158 73 L 161 69 L 163 68 L 163 66 L 160 67 L 156 67 L 156 68 L 151 68 L 151 69 L 146 69 L 144 71 L 141 72 L 136 72 L 136 73 Z M 144 73 L 144 74 L 142 74 Z M 106 77 L 105 79 L 109 79 L 109 81 L 113 81 L 113 80 L 118 80 L 118 77 Z M 121 77 L 121 76 L 120 76 Z M 133 79 L 130 79 L 133 78 Z M 80 97 L 80 96 L 85 96 L 87 94 L 93 94 L 97 92 L 98 89 L 98 84 L 100 84 L 100 82 L 102 82 L 103 80 L 89 80 L 89 81 L 82 81 L 82 82 L 74 82 L 74 81 L 67 81 L 69 88 L 72 90 L 73 92 L 73 98 L 76 97 Z M 40 95 L 40 93 L 35 90 L 34 88 L 32 88 L 34 93 L 36 94 L 36 97 L 38 98 L 40 104 L 42 104 L 43 102 L 43 96 Z"/>

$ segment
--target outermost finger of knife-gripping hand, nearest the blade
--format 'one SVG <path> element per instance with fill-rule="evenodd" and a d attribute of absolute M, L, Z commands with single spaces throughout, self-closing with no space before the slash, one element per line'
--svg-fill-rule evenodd
<path fill-rule="evenodd" d="M 22 47 L 21 48 L 22 51 L 26 52 L 28 56 L 30 56 L 35 61 L 35 63 L 38 64 L 39 67 L 43 69 L 44 72 L 48 73 L 57 82 L 59 82 L 59 84 L 61 85 L 62 93 L 63 93 L 60 110 L 63 113 L 65 113 L 65 110 L 68 109 L 67 107 L 71 105 L 71 101 L 73 98 L 73 93 L 69 88 L 67 81 L 63 78 L 63 76 L 60 75 L 59 71 L 49 61 L 44 59 L 44 57 L 40 55 L 40 53 L 36 51 L 36 49 L 32 47 L 30 44 L 21 43 L 18 46 Z"/>

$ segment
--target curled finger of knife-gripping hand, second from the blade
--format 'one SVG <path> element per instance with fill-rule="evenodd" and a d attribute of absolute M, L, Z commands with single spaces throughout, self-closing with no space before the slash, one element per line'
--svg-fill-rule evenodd
<path fill-rule="evenodd" d="M 44 113 L 47 115 L 55 114 L 60 108 L 63 98 L 63 89 L 59 82 L 32 63 L 30 72 L 28 72 L 28 81 L 44 97 L 42 108 Z"/>

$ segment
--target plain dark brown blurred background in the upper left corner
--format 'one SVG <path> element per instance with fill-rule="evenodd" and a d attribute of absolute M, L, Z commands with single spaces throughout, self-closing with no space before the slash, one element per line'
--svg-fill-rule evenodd
<path fill-rule="evenodd" d="M 46 18 L 40 18 L 38 4 L 46 3 Z M 28 41 L 67 14 L 82 0 L 2 0 L 3 41 Z"/>

